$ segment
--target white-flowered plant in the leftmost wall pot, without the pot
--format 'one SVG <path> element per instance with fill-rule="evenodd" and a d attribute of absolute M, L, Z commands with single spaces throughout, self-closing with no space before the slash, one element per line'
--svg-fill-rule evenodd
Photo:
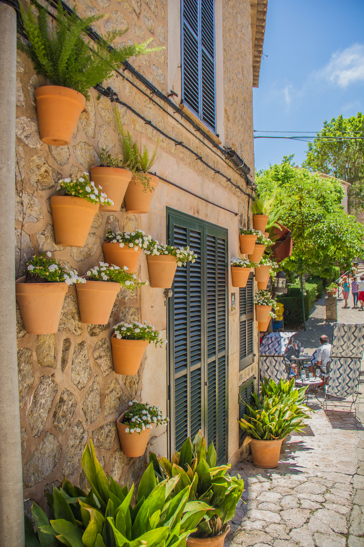
<path fill-rule="evenodd" d="M 75 270 L 68 270 L 64 266 L 61 266 L 56 259 L 52 258 L 52 254 L 49 251 L 34 255 L 34 257 L 27 262 L 26 266 L 26 283 L 64 282 L 67 283 L 67 285 L 86 283 L 86 280 L 79 277 Z"/>

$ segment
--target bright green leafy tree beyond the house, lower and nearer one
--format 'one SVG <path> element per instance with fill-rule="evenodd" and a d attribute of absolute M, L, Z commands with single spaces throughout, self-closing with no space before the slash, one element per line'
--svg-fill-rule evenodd
<path fill-rule="evenodd" d="M 292 232 L 293 253 L 284 269 L 297 274 L 332 275 L 364 251 L 364 226 L 346 214 L 343 189 L 335 179 L 321 179 L 294 167 L 293 156 L 256 176 L 258 191 L 272 200 L 271 216 Z"/>

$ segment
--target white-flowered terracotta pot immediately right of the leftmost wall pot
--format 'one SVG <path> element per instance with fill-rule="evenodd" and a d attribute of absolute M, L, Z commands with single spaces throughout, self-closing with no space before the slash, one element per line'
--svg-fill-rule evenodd
<path fill-rule="evenodd" d="M 86 283 L 76 287 L 82 323 L 105 325 L 121 286 L 133 290 L 146 283 L 129 273 L 126 266 L 100 262 L 87 271 Z"/>

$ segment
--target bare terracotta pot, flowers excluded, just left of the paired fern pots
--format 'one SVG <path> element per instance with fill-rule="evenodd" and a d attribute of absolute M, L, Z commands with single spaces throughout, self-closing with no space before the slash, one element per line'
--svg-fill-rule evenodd
<path fill-rule="evenodd" d="M 57 245 L 83 247 L 99 210 L 98 203 L 83 197 L 51 196 L 51 208 Z"/>

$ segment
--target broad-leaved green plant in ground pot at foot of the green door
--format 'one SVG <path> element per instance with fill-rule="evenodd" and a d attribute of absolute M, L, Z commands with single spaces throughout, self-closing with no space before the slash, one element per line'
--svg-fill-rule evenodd
<path fill-rule="evenodd" d="M 229 520 L 235 515 L 244 483 L 240 475 L 228 475 L 228 465 L 216 465 L 216 451 L 213 443 L 206 447 L 205 438 L 199 432 L 193 443 L 186 439 L 180 452 L 175 452 L 171 460 L 151 452 L 150 461 L 154 465 L 157 478 L 171 479 L 181 475 L 181 485 L 171 493 L 173 500 L 178 490 L 189 486 L 189 501 L 204 502 L 209 506 L 206 515 L 201 515 L 197 530 L 187 539 L 187 547 L 223 547 L 229 532 Z"/>

